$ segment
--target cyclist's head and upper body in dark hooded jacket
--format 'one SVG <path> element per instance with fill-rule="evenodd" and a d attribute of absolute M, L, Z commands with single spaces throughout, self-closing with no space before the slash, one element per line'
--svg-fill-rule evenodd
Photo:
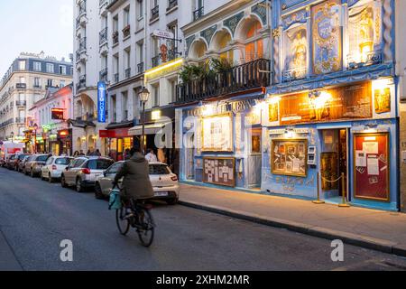
<path fill-rule="evenodd" d="M 132 157 L 123 163 L 115 174 L 114 183 L 124 177 L 123 196 L 126 198 L 150 199 L 154 196 L 150 181 L 149 163 L 139 149 L 131 149 Z"/>

